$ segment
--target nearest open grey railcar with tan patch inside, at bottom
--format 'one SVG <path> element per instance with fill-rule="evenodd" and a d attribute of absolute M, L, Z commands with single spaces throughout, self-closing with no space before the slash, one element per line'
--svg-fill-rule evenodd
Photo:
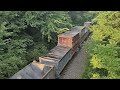
<path fill-rule="evenodd" d="M 55 79 L 55 67 L 33 61 L 10 79 Z"/>

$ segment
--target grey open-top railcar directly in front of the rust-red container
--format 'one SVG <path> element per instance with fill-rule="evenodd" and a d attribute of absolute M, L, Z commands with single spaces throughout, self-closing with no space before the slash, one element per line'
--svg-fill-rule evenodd
<path fill-rule="evenodd" d="M 71 48 L 56 46 L 47 55 L 39 57 L 39 62 L 45 65 L 55 66 L 56 77 L 59 75 L 68 61 L 72 58 Z"/>

